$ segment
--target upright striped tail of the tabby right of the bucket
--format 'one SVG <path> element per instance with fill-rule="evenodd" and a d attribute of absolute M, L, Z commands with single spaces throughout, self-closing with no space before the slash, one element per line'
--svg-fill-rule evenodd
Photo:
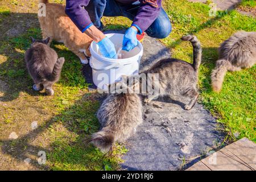
<path fill-rule="evenodd" d="M 195 71 L 198 73 L 199 72 L 199 67 L 201 64 L 202 60 L 202 48 L 199 40 L 195 35 L 187 35 L 183 36 L 181 40 L 189 41 L 192 43 L 193 46 L 193 68 Z"/>

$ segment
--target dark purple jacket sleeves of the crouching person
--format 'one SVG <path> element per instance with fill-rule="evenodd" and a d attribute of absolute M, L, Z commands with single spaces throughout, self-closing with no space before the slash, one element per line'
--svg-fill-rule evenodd
<path fill-rule="evenodd" d="M 67 0 L 66 1 L 66 14 L 76 26 L 83 32 L 86 27 L 92 24 L 89 18 L 88 12 L 84 9 L 88 5 L 90 0 Z M 93 0 L 92 0 L 93 1 Z M 134 0 L 116 0 L 119 3 L 133 3 Z M 157 18 L 160 7 L 162 6 L 162 0 L 139 0 L 141 7 L 139 7 L 138 13 L 133 20 L 133 24 L 140 29 L 142 33 L 154 22 Z"/>

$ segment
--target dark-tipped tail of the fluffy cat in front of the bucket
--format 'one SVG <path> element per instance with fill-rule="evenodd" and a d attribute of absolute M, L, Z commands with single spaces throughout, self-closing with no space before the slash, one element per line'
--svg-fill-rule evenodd
<path fill-rule="evenodd" d="M 109 152 L 112 150 L 114 144 L 114 134 L 109 130 L 98 131 L 92 135 L 90 143 L 100 148 L 102 152 Z"/>

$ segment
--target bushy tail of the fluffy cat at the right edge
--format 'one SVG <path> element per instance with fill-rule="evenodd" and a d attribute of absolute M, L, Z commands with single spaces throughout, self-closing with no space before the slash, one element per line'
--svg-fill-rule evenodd
<path fill-rule="evenodd" d="M 214 92 L 220 92 L 224 77 L 230 66 L 231 64 L 228 60 L 221 59 L 216 61 L 216 67 L 212 70 L 212 73 L 210 74 L 210 78 L 212 80 L 212 90 Z"/>

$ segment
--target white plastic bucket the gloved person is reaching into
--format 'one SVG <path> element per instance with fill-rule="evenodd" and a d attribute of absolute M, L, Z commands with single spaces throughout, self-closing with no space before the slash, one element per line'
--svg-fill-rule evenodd
<path fill-rule="evenodd" d="M 123 34 L 106 34 L 114 43 L 115 49 L 122 47 Z M 143 54 L 140 42 L 133 50 L 122 51 L 122 59 L 109 59 L 101 55 L 96 42 L 90 44 L 90 67 L 92 67 L 93 82 L 98 89 L 106 90 L 109 84 L 121 81 L 121 76 L 138 75 L 139 64 Z"/>

